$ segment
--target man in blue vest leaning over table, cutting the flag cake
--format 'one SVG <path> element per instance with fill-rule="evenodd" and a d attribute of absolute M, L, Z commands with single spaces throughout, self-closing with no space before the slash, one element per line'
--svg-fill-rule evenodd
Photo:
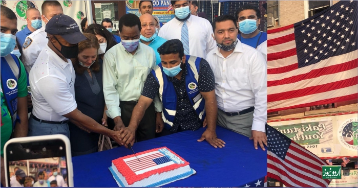
<path fill-rule="evenodd" d="M 122 144 L 133 146 L 144 111 L 159 95 L 165 129 L 157 127 L 156 132 L 166 135 L 207 126 L 198 142 L 206 139 L 215 148 L 224 147 L 225 142 L 217 138 L 215 131 L 215 78 L 208 62 L 200 57 L 185 56 L 183 44 L 178 39 L 164 42 L 158 52 L 161 63 L 146 78 L 129 126 L 120 129 Z"/>

